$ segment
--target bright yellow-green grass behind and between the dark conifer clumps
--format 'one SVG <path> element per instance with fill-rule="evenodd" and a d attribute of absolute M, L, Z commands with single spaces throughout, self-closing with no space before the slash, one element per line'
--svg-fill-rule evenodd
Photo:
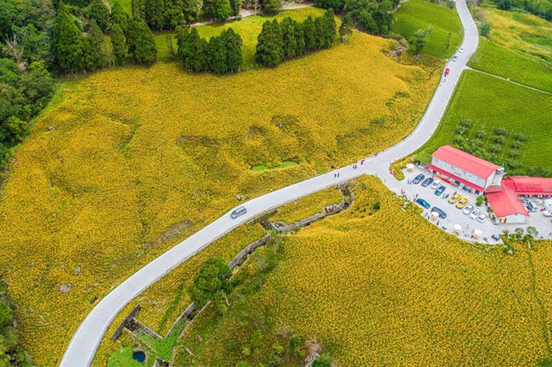
<path fill-rule="evenodd" d="M 199 35 L 210 39 L 212 36 L 218 36 L 223 30 L 227 28 L 233 28 L 240 36 L 242 36 L 242 56 L 244 57 L 244 67 L 250 67 L 255 62 L 255 46 L 257 45 L 257 36 L 262 30 L 263 23 L 268 20 L 277 19 L 282 21 L 286 17 L 291 17 L 296 21 L 304 21 L 306 17 L 320 17 L 324 14 L 325 10 L 309 6 L 307 8 L 300 8 L 295 10 L 284 10 L 273 16 L 265 14 L 252 15 L 246 17 L 241 21 L 226 21 L 220 23 L 214 23 L 212 25 L 199 25 L 197 31 Z M 337 27 L 339 27 L 339 19 L 336 18 Z M 167 36 L 172 37 L 172 47 L 177 51 L 177 43 L 174 32 L 155 32 L 155 43 L 157 44 L 157 59 L 164 60 L 169 56 Z"/>

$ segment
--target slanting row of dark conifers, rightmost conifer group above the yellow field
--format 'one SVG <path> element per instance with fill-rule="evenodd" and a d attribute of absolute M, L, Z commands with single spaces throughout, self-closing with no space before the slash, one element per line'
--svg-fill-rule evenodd
<path fill-rule="evenodd" d="M 306 52 L 331 47 L 335 34 L 333 9 L 314 20 L 308 16 L 303 23 L 289 17 L 281 23 L 276 19 L 266 21 L 257 37 L 255 59 L 263 66 L 273 67 Z"/>

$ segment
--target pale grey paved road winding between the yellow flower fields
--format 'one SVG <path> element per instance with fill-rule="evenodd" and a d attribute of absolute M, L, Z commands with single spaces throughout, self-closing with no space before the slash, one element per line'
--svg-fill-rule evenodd
<path fill-rule="evenodd" d="M 160 277 L 174 269 L 175 266 L 190 258 L 190 256 L 206 247 L 210 242 L 221 237 L 221 235 L 228 233 L 240 224 L 248 222 L 248 220 L 258 216 L 260 213 L 325 189 L 326 187 L 331 187 L 339 182 L 351 180 L 363 174 L 377 174 L 383 177 L 388 172 L 390 162 L 406 156 L 422 146 L 435 131 L 440 118 L 444 114 L 446 105 L 453 94 L 455 84 L 460 78 L 460 73 L 464 70 L 466 61 L 468 61 L 471 54 L 477 48 L 477 28 L 475 27 L 475 23 L 473 23 L 465 1 L 457 0 L 456 8 L 464 26 L 464 41 L 462 43 L 464 52 L 460 54 L 460 58 L 457 61 L 450 62 L 447 65 L 447 67 L 451 68 L 451 74 L 444 83 L 441 83 L 437 87 L 424 117 L 410 136 L 394 147 L 377 154 L 377 156 L 366 158 L 364 165 L 358 166 L 359 169 L 351 169 L 351 166 L 344 167 L 249 200 L 244 203 L 248 209 L 246 215 L 239 217 L 237 220 L 231 220 L 229 213 L 226 213 L 221 218 L 215 220 L 215 222 L 204 227 L 204 229 L 186 238 L 186 240 L 180 242 L 177 246 L 130 276 L 117 286 L 116 289 L 106 295 L 106 297 L 103 297 L 73 335 L 61 360 L 61 366 L 89 366 L 92 363 L 103 333 L 105 333 L 112 319 L 121 311 L 121 308 L 156 280 L 159 280 Z M 339 177 L 336 177 L 337 174 L 339 174 Z"/>

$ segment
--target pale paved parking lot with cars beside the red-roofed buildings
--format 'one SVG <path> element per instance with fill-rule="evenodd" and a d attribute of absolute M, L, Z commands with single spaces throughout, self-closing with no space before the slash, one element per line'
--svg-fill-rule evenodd
<path fill-rule="evenodd" d="M 477 194 L 470 193 L 460 189 L 459 187 L 454 187 L 453 185 L 447 182 L 440 182 L 438 187 L 443 186 L 444 191 L 440 195 L 436 195 L 437 187 L 436 185 L 428 185 L 426 187 L 422 186 L 421 182 L 414 184 L 412 180 L 418 175 L 423 174 L 424 180 L 426 178 L 433 178 L 439 180 L 433 176 L 433 174 L 426 170 L 423 167 L 415 167 L 413 171 L 404 170 L 404 180 L 396 180 L 391 176 L 390 180 L 387 180 L 388 187 L 392 187 L 398 195 L 404 196 L 413 202 L 416 202 L 417 199 L 422 199 L 427 202 L 429 205 L 428 208 L 422 207 L 419 203 L 416 203 L 419 207 L 423 209 L 422 215 L 424 218 L 444 231 L 457 235 L 457 237 L 464 240 L 472 240 L 483 243 L 496 244 L 501 242 L 500 239 L 496 240 L 496 236 L 500 235 L 502 231 L 508 230 L 513 231 L 517 227 L 535 227 L 538 232 L 539 238 L 552 238 L 552 222 L 551 218 L 545 217 L 542 213 L 542 200 L 531 199 L 530 201 L 537 207 L 537 210 L 529 213 L 529 218 L 525 224 L 494 224 L 491 218 L 480 218 L 477 220 L 477 216 L 473 213 L 473 210 L 469 210 L 469 205 L 473 206 L 474 209 L 479 208 L 482 213 L 487 213 L 489 207 L 487 207 L 486 202 L 484 202 L 480 207 L 475 205 Z M 433 183 L 433 182 L 432 182 Z M 396 186 L 396 187 L 395 187 Z M 437 192 L 438 193 L 438 192 Z M 459 194 L 462 198 L 467 199 L 466 205 L 459 209 L 457 207 L 457 200 L 454 203 L 450 203 L 449 199 L 451 196 Z M 464 200 L 466 201 L 466 200 Z M 424 204 L 422 202 L 422 204 Z M 433 207 L 437 207 L 446 213 L 446 218 L 436 217 L 432 215 Z M 495 238 L 493 238 L 495 237 Z"/>

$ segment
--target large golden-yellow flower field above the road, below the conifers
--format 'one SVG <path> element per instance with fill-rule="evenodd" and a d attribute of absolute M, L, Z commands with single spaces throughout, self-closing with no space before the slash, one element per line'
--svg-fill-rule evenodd
<path fill-rule="evenodd" d="M 349 45 L 270 70 L 218 77 L 157 63 L 70 83 L 14 155 L 0 202 L 0 265 L 37 365 L 57 365 L 96 297 L 236 195 L 346 165 L 408 134 L 442 61 L 397 63 L 382 52 L 391 42 L 355 32 Z M 250 169 L 283 160 L 299 165 Z"/>

